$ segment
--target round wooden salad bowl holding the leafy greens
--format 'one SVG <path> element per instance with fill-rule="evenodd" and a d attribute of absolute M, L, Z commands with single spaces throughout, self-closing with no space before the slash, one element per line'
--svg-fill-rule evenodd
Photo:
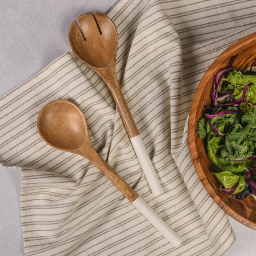
<path fill-rule="evenodd" d="M 220 183 L 212 175 L 216 169 L 208 160 L 205 145 L 197 134 L 197 123 L 205 111 L 203 102 L 211 102 L 210 90 L 213 76 L 230 62 L 230 58 L 238 54 L 233 66 L 238 71 L 243 71 L 256 60 L 256 32 L 243 37 L 226 49 L 203 75 L 194 94 L 190 108 L 188 136 L 189 146 L 194 168 L 207 193 L 231 217 L 254 230 L 256 230 L 256 200 L 247 196 L 243 200 L 233 199 L 219 189 Z"/>

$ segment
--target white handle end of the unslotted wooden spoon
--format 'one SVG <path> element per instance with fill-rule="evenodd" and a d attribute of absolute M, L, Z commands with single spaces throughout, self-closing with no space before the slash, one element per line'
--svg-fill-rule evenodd
<path fill-rule="evenodd" d="M 143 214 L 152 225 L 174 246 L 181 244 L 181 238 L 172 228 L 145 202 L 140 196 L 132 204 Z"/>

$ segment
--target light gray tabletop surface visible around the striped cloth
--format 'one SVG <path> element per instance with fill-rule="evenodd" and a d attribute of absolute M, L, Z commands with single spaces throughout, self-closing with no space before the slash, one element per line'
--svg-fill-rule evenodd
<path fill-rule="evenodd" d="M 0 1 L 0 96 L 67 51 L 68 30 L 80 14 L 106 13 L 117 0 Z M 24 255 L 17 169 L 0 167 L 0 255 Z M 226 256 L 256 255 L 256 230 L 229 217 L 236 242 Z"/>

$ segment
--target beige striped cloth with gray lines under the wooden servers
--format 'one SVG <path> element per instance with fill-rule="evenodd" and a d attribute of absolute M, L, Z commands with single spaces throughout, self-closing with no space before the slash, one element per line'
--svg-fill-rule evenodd
<path fill-rule="evenodd" d="M 224 255 L 225 213 L 190 159 L 187 120 L 199 80 L 230 44 L 255 31 L 255 1 L 120 0 L 117 76 L 164 193 L 154 197 L 110 92 L 66 53 L 0 99 L 0 162 L 21 168 L 26 256 Z M 86 159 L 41 140 L 36 119 L 55 99 L 84 112 L 97 152 L 181 236 L 174 248 Z M 11 170 L 9 170 L 11 171 Z"/>

